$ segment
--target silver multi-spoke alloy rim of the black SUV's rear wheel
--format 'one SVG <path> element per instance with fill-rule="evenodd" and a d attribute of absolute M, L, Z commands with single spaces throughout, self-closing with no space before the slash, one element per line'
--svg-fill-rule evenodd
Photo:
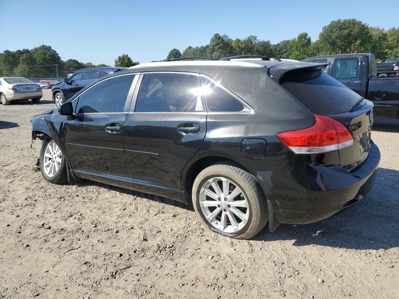
<path fill-rule="evenodd" d="M 217 230 L 235 233 L 249 220 L 249 203 L 237 184 L 225 177 L 208 179 L 199 192 L 199 206 Z"/>

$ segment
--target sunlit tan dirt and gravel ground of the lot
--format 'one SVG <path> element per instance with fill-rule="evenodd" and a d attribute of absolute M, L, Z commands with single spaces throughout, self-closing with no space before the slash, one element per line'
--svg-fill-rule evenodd
<path fill-rule="evenodd" d="M 169 199 L 32 171 L 30 118 L 0 105 L 0 298 L 399 298 L 399 122 L 376 120 L 377 182 L 309 225 L 232 240 Z"/>

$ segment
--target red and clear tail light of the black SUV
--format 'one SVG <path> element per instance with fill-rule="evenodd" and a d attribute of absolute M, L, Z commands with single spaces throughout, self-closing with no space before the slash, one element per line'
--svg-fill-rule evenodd
<path fill-rule="evenodd" d="M 280 132 L 277 137 L 294 153 L 325 153 L 354 144 L 344 124 L 328 116 L 315 114 L 314 117 L 316 123 L 310 128 Z"/>

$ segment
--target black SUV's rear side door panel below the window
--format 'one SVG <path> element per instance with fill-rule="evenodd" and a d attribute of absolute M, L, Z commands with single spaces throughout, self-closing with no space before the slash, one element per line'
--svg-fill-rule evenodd
<path fill-rule="evenodd" d="M 182 124 L 185 132 L 178 130 Z M 148 192 L 140 185 L 150 184 L 180 190 L 184 165 L 201 146 L 205 132 L 205 112 L 128 114 L 123 142 L 134 181 L 139 184 L 136 189 Z"/>

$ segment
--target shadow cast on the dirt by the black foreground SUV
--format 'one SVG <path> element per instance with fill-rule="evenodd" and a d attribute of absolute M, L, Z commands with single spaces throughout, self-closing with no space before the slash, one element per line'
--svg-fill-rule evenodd
<path fill-rule="evenodd" d="M 292 240 L 293 246 L 321 245 L 336 248 L 379 250 L 399 247 L 399 171 L 379 168 L 373 189 L 358 204 L 331 217 L 311 224 L 281 224 L 269 232 L 269 224 L 252 240 Z M 77 187 L 96 185 L 126 195 L 141 197 L 176 208 L 194 211 L 184 203 L 115 187 L 104 183 L 82 180 Z"/>

